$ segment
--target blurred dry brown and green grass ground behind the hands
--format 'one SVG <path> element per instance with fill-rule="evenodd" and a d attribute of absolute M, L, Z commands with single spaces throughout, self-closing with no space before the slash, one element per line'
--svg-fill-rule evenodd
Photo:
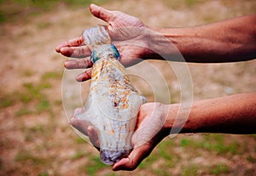
<path fill-rule="evenodd" d="M 0 175 L 255 175 L 255 135 L 167 138 L 133 172 L 113 173 L 100 162 L 98 152 L 68 126 L 61 99 L 64 57 L 55 53 L 57 44 L 101 23 L 90 15 L 90 3 L 160 27 L 204 25 L 256 9 L 253 0 L 1 0 Z M 175 73 L 166 63 L 150 62 L 163 71 L 172 103 L 179 102 Z M 255 91 L 254 60 L 189 68 L 195 100 Z M 134 82 L 154 100 L 139 79 Z"/>

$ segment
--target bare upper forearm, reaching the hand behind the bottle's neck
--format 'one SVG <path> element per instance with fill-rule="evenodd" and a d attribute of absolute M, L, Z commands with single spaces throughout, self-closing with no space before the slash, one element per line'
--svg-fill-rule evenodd
<path fill-rule="evenodd" d="M 256 14 L 206 26 L 153 31 L 171 41 L 187 62 L 215 63 L 256 58 Z M 152 41 L 152 48 L 161 46 L 162 41 L 158 41 L 157 37 L 153 37 Z M 156 50 L 161 52 L 159 54 L 173 54 L 164 47 Z M 159 54 L 151 54 L 148 58 L 160 59 Z"/>

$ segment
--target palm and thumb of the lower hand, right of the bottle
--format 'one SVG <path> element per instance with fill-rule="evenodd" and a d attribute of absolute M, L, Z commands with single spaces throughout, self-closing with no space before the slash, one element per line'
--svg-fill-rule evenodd
<path fill-rule="evenodd" d="M 136 169 L 154 147 L 169 134 L 165 126 L 169 111 L 166 107 L 168 106 L 160 103 L 147 103 L 141 106 L 137 117 L 137 128 L 131 139 L 133 150 L 128 157 L 113 165 L 113 171 Z"/>

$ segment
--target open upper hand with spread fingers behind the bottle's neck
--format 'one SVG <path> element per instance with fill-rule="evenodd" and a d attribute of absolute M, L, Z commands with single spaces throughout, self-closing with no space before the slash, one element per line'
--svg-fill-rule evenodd
<path fill-rule="evenodd" d="M 125 65 L 133 65 L 143 58 L 148 52 L 147 27 L 141 20 L 129 14 L 119 11 L 109 11 L 94 4 L 90 5 L 90 12 L 96 18 L 108 23 L 108 31 L 112 43 L 119 50 L 120 62 Z M 67 60 L 67 69 L 88 68 L 76 79 L 79 82 L 90 79 L 92 62 L 90 61 L 90 48 L 84 43 L 82 36 L 68 40 L 56 47 L 56 52 L 67 57 L 79 58 L 80 60 Z"/>

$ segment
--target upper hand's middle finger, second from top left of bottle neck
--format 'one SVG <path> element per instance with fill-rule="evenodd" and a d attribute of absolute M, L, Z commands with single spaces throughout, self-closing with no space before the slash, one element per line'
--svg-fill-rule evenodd
<path fill-rule="evenodd" d="M 84 58 L 91 54 L 90 48 L 87 46 L 81 47 L 62 47 L 60 53 L 67 57 Z"/>

